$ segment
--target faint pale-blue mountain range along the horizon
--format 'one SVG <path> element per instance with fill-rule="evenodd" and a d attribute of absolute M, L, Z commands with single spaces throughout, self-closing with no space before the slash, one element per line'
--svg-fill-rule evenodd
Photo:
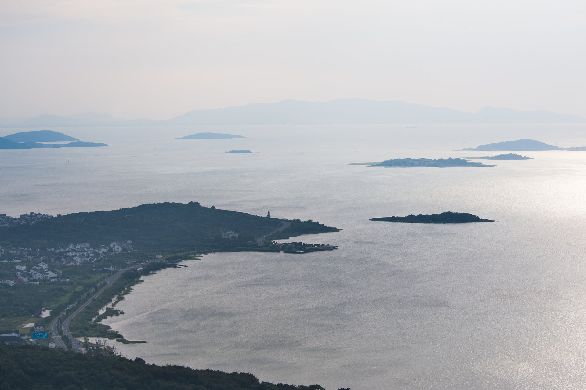
<path fill-rule="evenodd" d="M 111 114 L 86 113 L 71 117 L 39 115 L 3 127 L 141 126 L 141 125 L 325 125 L 432 123 L 584 123 L 586 118 L 550 111 L 516 111 L 485 107 L 477 112 L 412 104 L 403 101 L 338 99 L 328 102 L 284 100 L 251 103 L 213 110 L 189 111 L 167 120 L 121 121 Z"/>

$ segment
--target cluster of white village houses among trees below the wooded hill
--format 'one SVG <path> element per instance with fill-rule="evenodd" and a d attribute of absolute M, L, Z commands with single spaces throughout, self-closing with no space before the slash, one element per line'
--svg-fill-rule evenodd
<path fill-rule="evenodd" d="M 84 242 L 45 251 L 32 248 L 0 247 L 0 282 L 9 286 L 16 283 L 39 285 L 39 282 L 69 282 L 63 276 L 64 267 L 93 263 L 121 252 L 133 252 L 132 241 L 94 245 Z M 114 266 L 105 267 L 115 271 Z M 66 272 L 67 273 L 67 272 Z"/>

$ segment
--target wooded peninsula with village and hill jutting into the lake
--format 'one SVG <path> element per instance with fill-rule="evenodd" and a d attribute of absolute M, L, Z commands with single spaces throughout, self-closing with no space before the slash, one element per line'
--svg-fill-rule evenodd
<path fill-rule="evenodd" d="M 96 305 L 103 307 L 115 295 L 139 282 L 141 275 L 175 266 L 168 263 L 190 260 L 196 254 L 281 252 L 288 248 L 271 241 L 258 245 L 257 238 L 271 232 L 275 232 L 270 235 L 271 240 L 282 240 L 339 231 L 312 220 L 261 217 L 204 207 L 197 202 L 149 203 L 111 211 L 31 217 L 27 221 L 0 228 L 0 259 L 5 261 L 0 278 L 10 282 L 0 283 L 0 327 L 6 329 L 39 321 L 35 316 L 43 308 L 52 310 L 51 316 L 40 320 L 48 324 L 53 314 L 83 300 L 100 280 L 128 264 L 155 258 L 164 262 L 127 272 L 100 297 L 105 299 L 104 303 L 97 301 Z M 288 227 L 277 231 L 285 223 Z M 88 315 L 76 317 L 71 329 L 80 336 L 105 336 L 109 327 L 99 324 L 101 319 L 93 320 L 100 307 L 90 306 Z M 86 321 L 77 323 L 84 317 Z M 108 336 L 118 338 L 113 333 Z"/>

